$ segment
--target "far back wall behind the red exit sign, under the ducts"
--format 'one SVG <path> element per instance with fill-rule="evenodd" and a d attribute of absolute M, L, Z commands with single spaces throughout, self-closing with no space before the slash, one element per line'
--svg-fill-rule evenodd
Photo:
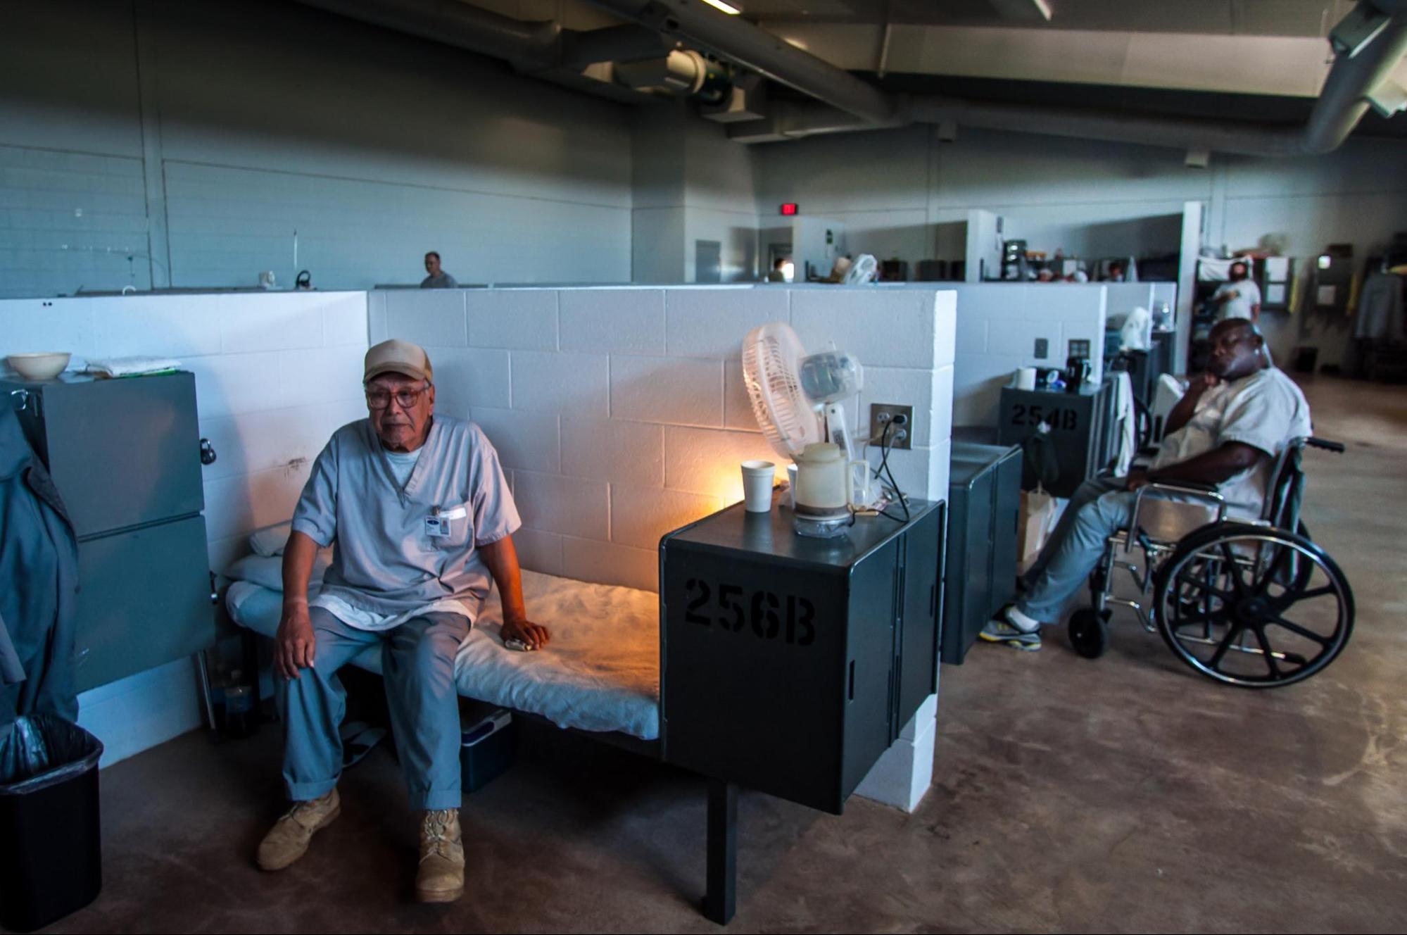
<path fill-rule="evenodd" d="M 1252 246 L 1282 234 L 1297 256 L 1331 242 L 1366 255 L 1403 230 L 1407 214 L 1407 145 L 1384 139 L 1351 139 L 1306 159 L 1218 155 L 1199 170 L 1172 149 L 969 130 L 941 142 L 933 127 L 909 127 L 771 144 L 758 158 L 763 204 L 798 201 L 809 214 L 841 220 L 851 251 L 881 258 L 960 259 L 953 248 L 962 238 L 941 234 L 969 208 L 1012 217 L 1050 239 L 1033 249 L 1067 253 L 1096 237 L 1106 248 L 1104 232 L 1121 242 L 1124 231 L 1161 231 L 1140 218 L 1180 215 L 1183 201 L 1207 204 L 1209 244 Z M 1166 237 L 1175 251 L 1176 230 L 1169 225 Z M 1162 241 L 1145 241 L 1154 242 Z M 1282 313 L 1269 313 L 1265 325 L 1276 353 L 1301 341 L 1300 322 Z"/>

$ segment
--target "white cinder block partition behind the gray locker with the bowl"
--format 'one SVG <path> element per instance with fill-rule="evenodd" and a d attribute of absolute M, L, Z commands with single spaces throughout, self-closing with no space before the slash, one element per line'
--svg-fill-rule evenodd
<path fill-rule="evenodd" d="M 366 414 L 366 297 L 355 291 L 0 300 L 0 363 L 70 351 L 72 368 L 158 355 L 194 372 L 200 431 L 218 453 L 201 469 L 215 570 L 246 551 L 250 531 L 291 515 L 322 445 Z M 84 691 L 79 722 L 103 739 L 104 765 L 198 727 L 191 663 Z"/>

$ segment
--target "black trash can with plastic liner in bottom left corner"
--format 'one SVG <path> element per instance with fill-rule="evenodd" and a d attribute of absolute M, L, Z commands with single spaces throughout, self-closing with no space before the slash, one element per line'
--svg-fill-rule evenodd
<path fill-rule="evenodd" d="M 0 925 L 30 932 L 103 889 L 103 742 L 52 714 L 0 727 Z"/>

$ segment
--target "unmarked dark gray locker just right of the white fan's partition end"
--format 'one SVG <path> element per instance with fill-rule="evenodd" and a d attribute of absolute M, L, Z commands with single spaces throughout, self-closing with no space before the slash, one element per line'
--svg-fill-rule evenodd
<path fill-rule="evenodd" d="M 953 444 L 943 662 L 958 665 L 982 625 L 1016 590 L 1021 449 Z"/>

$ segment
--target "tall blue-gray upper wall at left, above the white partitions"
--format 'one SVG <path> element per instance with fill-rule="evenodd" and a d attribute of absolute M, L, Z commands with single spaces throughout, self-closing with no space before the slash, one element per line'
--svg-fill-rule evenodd
<path fill-rule="evenodd" d="M 53 0 L 7 8 L 0 87 L 0 296 L 364 289 L 428 249 L 630 277 L 629 108 L 491 59 L 273 0 Z"/>

